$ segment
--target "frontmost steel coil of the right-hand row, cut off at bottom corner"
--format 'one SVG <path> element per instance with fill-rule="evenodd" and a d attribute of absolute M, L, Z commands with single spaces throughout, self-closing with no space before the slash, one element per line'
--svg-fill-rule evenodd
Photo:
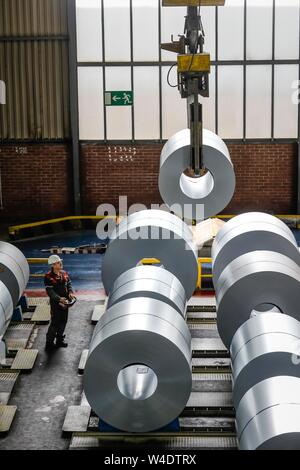
<path fill-rule="evenodd" d="M 236 411 L 240 450 L 300 449 L 300 379 L 285 375 L 254 385 Z"/>

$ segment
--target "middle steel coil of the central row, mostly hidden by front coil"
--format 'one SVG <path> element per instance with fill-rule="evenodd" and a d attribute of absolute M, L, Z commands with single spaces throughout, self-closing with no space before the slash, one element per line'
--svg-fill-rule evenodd
<path fill-rule="evenodd" d="M 121 274 L 114 283 L 107 308 L 134 297 L 162 300 L 185 318 L 187 301 L 183 285 L 164 268 L 137 266 Z"/>

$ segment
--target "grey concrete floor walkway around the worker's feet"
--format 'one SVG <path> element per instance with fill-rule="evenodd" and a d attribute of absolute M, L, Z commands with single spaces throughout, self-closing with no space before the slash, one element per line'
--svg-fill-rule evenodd
<path fill-rule="evenodd" d="M 48 326 L 39 326 L 33 347 L 39 350 L 34 369 L 19 376 L 9 405 L 18 407 L 11 430 L 0 439 L 0 449 L 67 449 L 62 425 L 68 406 L 80 403 L 82 376 L 77 369 L 83 349 L 89 347 L 93 326 L 90 319 L 95 302 L 78 301 L 70 309 L 66 329 L 67 349 L 44 351 Z"/>

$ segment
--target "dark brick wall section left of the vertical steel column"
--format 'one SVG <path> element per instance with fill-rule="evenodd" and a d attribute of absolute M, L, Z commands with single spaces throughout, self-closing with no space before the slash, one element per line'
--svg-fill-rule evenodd
<path fill-rule="evenodd" d="M 67 145 L 2 145 L 3 223 L 26 223 L 71 213 L 71 157 Z"/>

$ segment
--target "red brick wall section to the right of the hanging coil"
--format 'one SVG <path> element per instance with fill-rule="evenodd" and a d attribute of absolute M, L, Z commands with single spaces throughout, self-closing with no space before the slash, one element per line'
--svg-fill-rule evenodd
<path fill-rule="evenodd" d="M 296 144 L 235 144 L 229 150 L 237 186 L 224 212 L 297 213 Z"/>

